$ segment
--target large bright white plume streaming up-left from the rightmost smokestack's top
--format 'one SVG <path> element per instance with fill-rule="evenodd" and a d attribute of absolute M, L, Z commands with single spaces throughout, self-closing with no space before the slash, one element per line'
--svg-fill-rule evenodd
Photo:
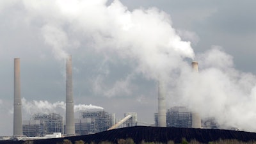
<path fill-rule="evenodd" d="M 136 71 L 150 79 L 168 77 L 183 58 L 193 58 L 190 42 L 184 42 L 171 26 L 170 16 L 157 8 L 133 10 L 115 0 L 23 1 L 28 19 L 41 20 L 45 42 L 58 59 L 86 40 L 99 52 L 118 54 L 138 63 Z M 36 16 L 36 17 L 35 17 Z M 170 61 L 173 61 L 172 63 Z"/>

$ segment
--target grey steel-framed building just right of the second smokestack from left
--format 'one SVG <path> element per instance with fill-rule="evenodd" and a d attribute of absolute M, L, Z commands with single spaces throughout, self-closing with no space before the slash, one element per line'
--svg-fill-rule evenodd
<path fill-rule="evenodd" d="M 92 134 L 107 131 L 115 124 L 115 114 L 106 111 L 86 111 L 75 119 L 76 134 Z"/>

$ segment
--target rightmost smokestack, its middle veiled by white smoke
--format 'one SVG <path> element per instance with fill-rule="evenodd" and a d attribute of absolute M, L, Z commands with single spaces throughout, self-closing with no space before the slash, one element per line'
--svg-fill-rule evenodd
<path fill-rule="evenodd" d="M 191 63 L 193 71 L 198 72 L 198 62 L 192 61 Z M 195 111 L 192 113 L 192 127 L 193 128 L 201 128 L 201 118 L 199 113 L 196 113 Z"/>

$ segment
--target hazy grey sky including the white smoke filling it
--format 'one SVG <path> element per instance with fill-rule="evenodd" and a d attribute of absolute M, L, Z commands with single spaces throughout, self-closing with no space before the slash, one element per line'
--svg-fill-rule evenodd
<path fill-rule="evenodd" d="M 154 122 L 157 81 L 166 106 L 187 106 L 255 132 L 256 1 L 0 1 L 0 135 L 13 133 L 13 58 L 24 114 L 65 114 L 65 56 L 78 107 L 137 112 Z M 191 72 L 193 59 L 199 73 Z M 89 106 L 92 104 L 91 106 Z M 87 106 L 86 106 L 87 105 Z M 76 113 L 78 116 L 78 114 Z"/>

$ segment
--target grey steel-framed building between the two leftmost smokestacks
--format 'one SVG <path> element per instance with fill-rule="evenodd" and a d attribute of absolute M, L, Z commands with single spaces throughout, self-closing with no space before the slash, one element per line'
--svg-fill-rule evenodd
<path fill-rule="evenodd" d="M 24 136 L 44 136 L 54 132 L 63 132 L 63 116 L 57 113 L 34 114 L 31 120 L 24 120 L 22 125 Z"/>

